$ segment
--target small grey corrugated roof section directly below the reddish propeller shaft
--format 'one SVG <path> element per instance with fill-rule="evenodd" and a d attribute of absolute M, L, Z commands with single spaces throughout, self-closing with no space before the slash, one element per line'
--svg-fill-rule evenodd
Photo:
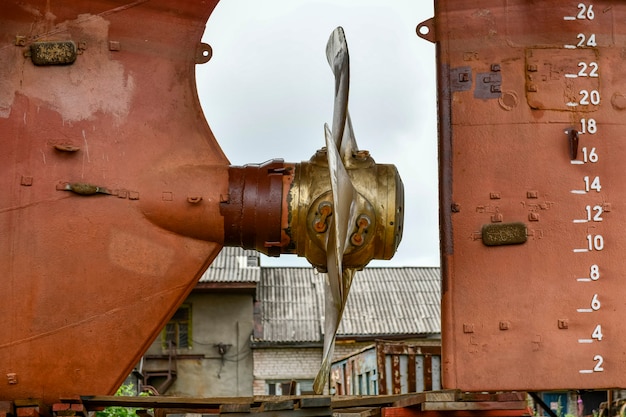
<path fill-rule="evenodd" d="M 200 282 L 259 282 L 259 253 L 235 247 L 224 247 Z"/>

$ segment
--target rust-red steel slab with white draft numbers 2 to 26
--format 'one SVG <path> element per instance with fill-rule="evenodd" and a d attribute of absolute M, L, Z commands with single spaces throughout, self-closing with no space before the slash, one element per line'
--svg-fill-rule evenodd
<path fill-rule="evenodd" d="M 435 3 L 446 388 L 624 386 L 624 22 L 620 1 Z M 485 245 L 498 224 L 525 242 Z"/>

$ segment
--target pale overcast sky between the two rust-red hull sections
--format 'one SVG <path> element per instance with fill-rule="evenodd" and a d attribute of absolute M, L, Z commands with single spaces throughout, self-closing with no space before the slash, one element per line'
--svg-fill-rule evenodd
<path fill-rule="evenodd" d="M 205 116 L 234 165 L 308 160 L 331 124 L 334 78 L 326 41 L 343 26 L 350 52 L 349 109 L 359 149 L 398 168 L 405 186 L 402 243 L 371 266 L 438 266 L 435 48 L 415 34 L 430 0 L 222 0 L 198 66 Z M 263 258 L 264 266 L 304 266 Z"/>

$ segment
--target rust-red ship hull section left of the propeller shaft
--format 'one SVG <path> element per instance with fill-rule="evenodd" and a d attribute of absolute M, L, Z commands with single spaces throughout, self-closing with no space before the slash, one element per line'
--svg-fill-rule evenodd
<path fill-rule="evenodd" d="M 0 400 L 113 393 L 220 250 L 144 216 L 227 193 L 194 78 L 216 3 L 0 2 Z M 34 65 L 44 41 L 75 61 Z"/>

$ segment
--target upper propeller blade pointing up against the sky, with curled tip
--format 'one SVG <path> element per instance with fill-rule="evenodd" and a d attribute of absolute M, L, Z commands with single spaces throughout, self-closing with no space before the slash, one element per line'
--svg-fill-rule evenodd
<path fill-rule="evenodd" d="M 348 90 L 350 88 L 350 56 L 348 44 L 341 26 L 328 38 L 326 58 L 335 75 L 335 104 L 333 108 L 333 142 L 340 149 L 348 114 Z"/>

